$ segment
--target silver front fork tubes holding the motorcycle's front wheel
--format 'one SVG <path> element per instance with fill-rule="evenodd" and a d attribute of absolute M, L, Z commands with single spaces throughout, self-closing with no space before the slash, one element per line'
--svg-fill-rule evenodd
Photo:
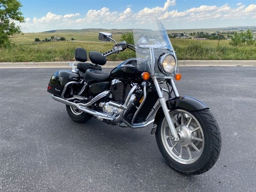
<path fill-rule="evenodd" d="M 172 122 L 172 118 L 170 117 L 169 109 L 167 107 L 166 100 L 165 100 L 165 98 L 163 96 L 162 89 L 160 88 L 156 78 L 153 78 L 153 81 L 154 81 L 154 85 L 156 87 L 157 94 L 159 96 L 160 105 L 162 106 L 162 110 L 164 112 L 164 116 L 166 118 L 167 124 L 168 124 L 170 132 L 172 134 L 172 138 L 173 138 L 174 141 L 178 141 L 179 140 L 179 136 L 178 136 L 178 134 L 176 132 L 174 123 Z M 178 90 L 177 90 L 177 88 L 176 88 L 176 86 L 174 84 L 174 80 L 173 79 L 171 79 L 171 84 L 172 84 L 172 89 L 174 90 L 175 96 L 176 97 L 179 96 Z"/>

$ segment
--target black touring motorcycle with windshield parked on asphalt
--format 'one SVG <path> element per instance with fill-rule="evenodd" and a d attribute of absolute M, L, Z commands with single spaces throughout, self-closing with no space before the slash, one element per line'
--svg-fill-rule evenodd
<path fill-rule="evenodd" d="M 134 43 L 117 43 L 112 34 L 99 40 L 113 41 L 105 52 L 76 48 L 72 71 L 59 70 L 47 91 L 66 105 L 75 122 L 92 117 L 113 126 L 144 128 L 152 125 L 158 148 L 167 163 L 182 174 L 202 174 L 216 163 L 221 135 L 216 119 L 203 102 L 180 96 L 174 80 L 180 80 L 177 56 L 163 24 L 153 16 L 139 18 L 133 29 Z M 126 49 L 136 58 L 120 63 L 110 73 L 102 71 L 106 57 Z M 163 88 L 166 84 L 167 88 Z M 167 94 L 168 99 L 164 97 Z"/>

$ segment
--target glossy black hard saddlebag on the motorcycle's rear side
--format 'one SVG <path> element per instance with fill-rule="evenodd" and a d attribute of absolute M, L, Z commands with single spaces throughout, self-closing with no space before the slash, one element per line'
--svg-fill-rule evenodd
<path fill-rule="evenodd" d="M 71 71 L 56 71 L 50 79 L 47 92 L 56 96 L 61 96 L 65 85 L 70 81 L 79 82 L 80 75 Z"/>

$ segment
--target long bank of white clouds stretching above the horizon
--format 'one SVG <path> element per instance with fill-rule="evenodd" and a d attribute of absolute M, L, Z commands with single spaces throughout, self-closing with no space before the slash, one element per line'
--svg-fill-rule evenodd
<path fill-rule="evenodd" d="M 88 10 L 84 17 L 82 16 L 84 13 L 57 15 L 48 12 L 42 18 L 26 18 L 26 23 L 20 25 L 30 31 L 36 29 L 33 32 L 65 28 L 132 28 L 136 18 L 145 14 L 158 17 L 167 24 L 166 28 L 173 28 L 174 23 L 184 24 L 184 27 L 187 27 L 186 24 L 194 24 L 192 26 L 195 28 L 198 22 L 207 22 L 210 25 L 214 21 L 220 24 L 226 22 L 226 26 L 230 26 L 229 20 L 240 20 L 242 25 L 243 21 L 248 21 L 251 22 L 249 25 L 255 25 L 253 18 L 256 16 L 256 4 L 246 7 L 238 3 L 238 7 L 235 8 L 228 4 L 201 5 L 185 11 L 179 11 L 175 7 L 173 9 L 175 5 L 176 0 L 166 0 L 162 7 L 146 7 L 138 12 L 134 12 L 129 6 L 121 12 L 110 11 L 109 8 L 103 7 L 99 10 Z"/>

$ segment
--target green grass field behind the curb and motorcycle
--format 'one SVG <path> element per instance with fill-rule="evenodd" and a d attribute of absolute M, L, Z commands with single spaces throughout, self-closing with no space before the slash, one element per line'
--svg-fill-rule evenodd
<path fill-rule="evenodd" d="M 112 32 L 113 38 L 120 41 L 121 34 Z M 64 36 L 67 40 L 77 41 L 40 42 L 51 36 Z M 12 38 L 13 46 L 0 48 L 0 62 L 43 62 L 74 60 L 74 50 L 77 47 L 90 51 L 106 52 L 114 45 L 112 42 L 99 42 L 98 32 L 55 32 L 55 33 L 26 33 Z M 233 47 L 228 40 L 193 40 L 171 39 L 179 60 L 256 60 L 256 46 Z M 131 50 L 108 56 L 108 60 L 120 61 L 135 57 Z"/>

